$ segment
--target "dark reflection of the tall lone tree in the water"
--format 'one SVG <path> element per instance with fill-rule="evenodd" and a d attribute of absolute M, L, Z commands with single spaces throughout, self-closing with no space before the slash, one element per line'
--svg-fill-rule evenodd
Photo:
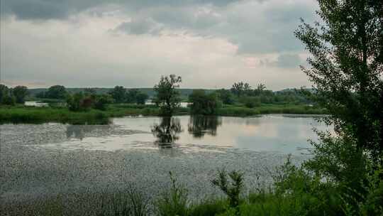
<path fill-rule="evenodd" d="M 162 117 L 160 124 L 152 126 L 152 134 L 157 137 L 159 144 L 172 144 L 179 139 L 177 134 L 182 132 L 178 118 Z"/>

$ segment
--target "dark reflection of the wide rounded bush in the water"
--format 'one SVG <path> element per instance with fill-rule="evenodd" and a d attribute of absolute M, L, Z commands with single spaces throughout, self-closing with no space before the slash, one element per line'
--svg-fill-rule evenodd
<path fill-rule="evenodd" d="M 188 131 L 196 138 L 201 138 L 205 134 L 217 135 L 217 127 L 221 126 L 221 117 L 216 116 L 191 116 L 188 124 Z"/>

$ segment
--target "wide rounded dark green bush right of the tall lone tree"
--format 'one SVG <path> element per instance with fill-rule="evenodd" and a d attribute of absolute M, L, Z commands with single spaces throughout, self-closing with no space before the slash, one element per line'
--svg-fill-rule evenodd
<path fill-rule="evenodd" d="M 216 114 L 220 104 L 215 93 L 206 95 L 204 90 L 193 90 L 189 95 L 190 112 L 191 114 Z"/>

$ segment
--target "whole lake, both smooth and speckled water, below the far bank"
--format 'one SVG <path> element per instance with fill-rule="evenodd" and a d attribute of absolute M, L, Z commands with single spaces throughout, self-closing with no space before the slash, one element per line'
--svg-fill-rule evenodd
<path fill-rule="evenodd" d="M 169 186 L 169 171 L 193 198 L 215 194 L 221 168 L 245 173 L 248 188 L 272 182 L 272 171 L 292 154 L 310 157 L 313 117 L 124 117 L 110 125 L 0 126 L 1 200 L 23 202 L 82 190 L 138 185 L 148 195 Z M 6 204 L 4 204 L 6 205 Z"/>

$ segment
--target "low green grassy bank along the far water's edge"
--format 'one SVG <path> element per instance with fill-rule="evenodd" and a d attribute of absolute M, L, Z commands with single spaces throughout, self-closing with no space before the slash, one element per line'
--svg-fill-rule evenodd
<path fill-rule="evenodd" d="M 71 112 L 66 107 L 26 107 L 1 106 L 0 124 L 29 123 L 40 124 L 58 122 L 67 124 L 108 124 L 111 117 L 158 116 L 160 109 L 153 105 L 111 104 L 105 111 L 89 109 L 83 112 Z M 189 114 L 189 108 L 179 108 L 176 115 Z M 257 114 L 327 114 L 326 109 L 306 105 L 265 105 L 255 108 L 222 107 L 218 116 L 247 117 Z"/>

